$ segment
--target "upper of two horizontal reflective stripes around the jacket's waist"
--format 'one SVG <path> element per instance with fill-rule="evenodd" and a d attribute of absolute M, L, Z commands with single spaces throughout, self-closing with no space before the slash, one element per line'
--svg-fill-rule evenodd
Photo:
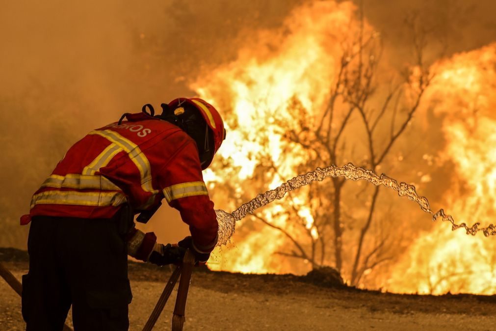
<path fill-rule="evenodd" d="M 90 176 L 79 174 L 67 174 L 65 176 L 51 175 L 43 184 L 44 187 L 68 188 L 68 189 L 99 189 L 99 190 L 121 190 L 117 185 L 103 176 Z"/>

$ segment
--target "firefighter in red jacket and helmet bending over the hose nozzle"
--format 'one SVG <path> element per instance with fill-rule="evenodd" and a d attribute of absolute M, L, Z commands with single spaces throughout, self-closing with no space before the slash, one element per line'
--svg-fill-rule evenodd
<path fill-rule="evenodd" d="M 147 110 L 149 112 L 147 112 Z M 62 330 L 70 305 L 75 330 L 127 330 L 127 255 L 178 264 L 186 249 L 206 262 L 218 223 L 202 170 L 225 139 L 222 118 L 199 98 L 149 104 L 88 133 L 69 148 L 31 199 L 29 272 L 22 277 L 27 330 Z M 157 243 L 146 222 L 165 199 L 191 236 Z"/>

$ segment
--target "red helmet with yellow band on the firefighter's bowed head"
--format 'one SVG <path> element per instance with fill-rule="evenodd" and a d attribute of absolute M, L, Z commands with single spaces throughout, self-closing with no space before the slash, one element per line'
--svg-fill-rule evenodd
<path fill-rule="evenodd" d="M 184 112 L 184 109 L 182 109 L 181 107 L 184 107 L 185 105 L 191 105 L 196 108 L 207 123 L 207 126 L 210 128 L 211 132 L 213 133 L 213 158 L 215 153 L 217 153 L 217 151 L 219 150 L 222 141 L 226 138 L 226 130 L 224 129 L 224 122 L 222 121 L 222 117 L 211 104 L 200 98 L 174 99 L 169 103 L 169 109 L 174 111 L 176 115 L 180 115 L 182 111 Z M 207 168 L 211 162 L 212 160 L 210 159 L 207 164 L 202 165 L 202 169 Z"/>

